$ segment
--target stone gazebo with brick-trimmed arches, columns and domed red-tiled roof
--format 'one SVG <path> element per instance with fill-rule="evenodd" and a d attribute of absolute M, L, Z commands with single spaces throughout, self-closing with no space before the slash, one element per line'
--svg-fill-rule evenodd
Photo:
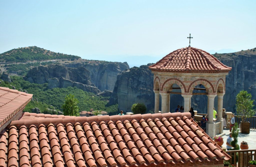
<path fill-rule="evenodd" d="M 169 112 L 170 93 L 177 84 L 184 98 L 184 111 L 188 112 L 194 89 L 206 90 L 208 96 L 208 117 L 206 132 L 210 137 L 223 132 L 222 104 L 225 94 L 226 75 L 231 67 L 223 65 L 216 57 L 204 50 L 185 47 L 173 51 L 149 66 L 154 74 L 155 113 L 159 111 L 159 94 L 162 97 L 162 113 Z M 203 85 L 205 89 L 195 88 Z M 177 88 L 175 88 L 177 89 Z M 175 92 L 177 94 L 177 92 Z M 196 93 L 194 93 L 196 94 Z M 198 94 L 198 93 L 197 93 Z M 213 121 L 214 98 L 218 96 L 218 118 Z M 217 130 L 216 130 L 217 128 Z"/>

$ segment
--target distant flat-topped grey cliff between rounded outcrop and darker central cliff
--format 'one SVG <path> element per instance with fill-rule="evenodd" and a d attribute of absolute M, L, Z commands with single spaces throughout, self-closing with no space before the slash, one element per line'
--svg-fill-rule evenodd
<path fill-rule="evenodd" d="M 91 82 L 101 91 L 113 90 L 116 77 L 119 73 L 129 69 L 127 62 L 101 62 L 101 63 L 85 63 L 85 64 L 68 64 L 67 67 L 85 67 L 90 71 Z"/>

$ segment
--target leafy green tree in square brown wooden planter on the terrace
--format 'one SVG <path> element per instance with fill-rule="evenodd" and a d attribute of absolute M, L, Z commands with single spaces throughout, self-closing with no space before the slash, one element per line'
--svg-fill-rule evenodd
<path fill-rule="evenodd" d="M 246 121 L 246 118 L 251 118 L 255 114 L 252 95 L 242 90 L 237 94 L 236 100 L 237 116 L 242 119 L 240 131 L 241 133 L 250 133 L 250 122 Z"/>

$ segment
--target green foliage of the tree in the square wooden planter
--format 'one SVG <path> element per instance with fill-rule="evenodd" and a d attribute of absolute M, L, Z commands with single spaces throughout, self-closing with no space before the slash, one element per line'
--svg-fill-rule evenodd
<path fill-rule="evenodd" d="M 255 114 L 255 110 L 253 110 L 254 100 L 252 100 L 251 93 L 242 90 L 237 94 L 236 100 L 237 116 L 242 118 L 243 121 Z"/>

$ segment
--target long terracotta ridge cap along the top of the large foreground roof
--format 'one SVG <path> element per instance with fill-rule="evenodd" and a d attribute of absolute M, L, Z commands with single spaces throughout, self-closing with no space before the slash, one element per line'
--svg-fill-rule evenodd
<path fill-rule="evenodd" d="M 26 113 L 28 114 L 28 113 Z M 35 113 L 29 113 L 31 115 L 35 115 Z M 162 119 L 163 117 L 165 118 L 170 118 L 173 117 L 174 119 L 176 117 L 188 117 L 191 118 L 191 114 L 189 112 L 184 112 L 184 113 L 180 113 L 180 112 L 176 112 L 176 113 L 155 113 L 155 114 L 134 114 L 134 115 L 124 115 L 124 116 L 120 116 L 120 115 L 114 115 L 114 116 L 92 116 L 92 117 L 75 117 L 75 116 L 70 116 L 68 118 L 45 118 L 45 119 L 28 119 L 28 120 L 24 120 L 24 119 L 20 119 L 17 121 L 12 121 L 9 126 L 16 126 L 16 127 L 20 127 L 20 126 L 30 126 L 32 124 L 38 126 L 39 124 L 44 124 L 45 126 L 47 126 L 49 123 L 53 124 L 53 125 L 57 125 L 58 123 L 63 123 L 63 124 L 67 124 L 67 123 L 71 123 L 71 124 L 75 124 L 76 122 L 79 122 L 81 124 L 83 124 L 84 122 L 97 122 L 100 123 L 101 121 L 104 121 L 106 123 L 108 123 L 109 121 L 113 121 L 116 122 L 118 120 L 120 120 L 121 122 L 124 122 L 125 120 L 141 120 L 141 119 L 145 119 L 147 120 L 148 118 L 151 118 L 152 120 L 154 120 L 155 118 L 159 118 Z"/>

